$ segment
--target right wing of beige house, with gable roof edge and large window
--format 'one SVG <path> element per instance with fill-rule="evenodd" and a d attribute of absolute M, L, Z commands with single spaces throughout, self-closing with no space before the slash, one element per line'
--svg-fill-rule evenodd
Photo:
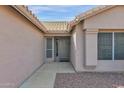
<path fill-rule="evenodd" d="M 100 6 L 72 21 L 76 71 L 124 71 L 124 6 Z"/>

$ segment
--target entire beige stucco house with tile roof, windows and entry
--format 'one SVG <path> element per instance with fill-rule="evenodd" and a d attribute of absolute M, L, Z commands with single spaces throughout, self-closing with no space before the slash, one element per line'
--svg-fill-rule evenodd
<path fill-rule="evenodd" d="M 18 87 L 46 62 L 124 71 L 124 6 L 99 6 L 71 22 L 40 22 L 25 6 L 0 6 L 0 87 Z"/>

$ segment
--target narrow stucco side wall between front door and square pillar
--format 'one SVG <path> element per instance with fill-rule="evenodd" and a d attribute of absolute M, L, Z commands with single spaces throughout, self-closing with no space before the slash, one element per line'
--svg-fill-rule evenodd
<path fill-rule="evenodd" d="M 85 38 L 82 27 L 82 23 L 76 25 L 71 37 L 71 61 L 76 71 L 83 67 L 85 61 Z"/>

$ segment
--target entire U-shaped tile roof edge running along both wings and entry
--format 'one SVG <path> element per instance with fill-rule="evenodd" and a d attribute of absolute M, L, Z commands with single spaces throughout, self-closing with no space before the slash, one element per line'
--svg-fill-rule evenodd
<path fill-rule="evenodd" d="M 42 21 L 40 22 L 37 19 L 37 17 L 30 10 L 28 10 L 27 6 L 12 5 L 13 8 L 21 12 L 25 17 L 27 17 L 27 19 L 32 21 L 33 24 L 35 24 L 38 28 L 42 29 L 43 32 L 45 33 L 68 33 L 73 28 L 73 26 L 78 24 L 80 21 L 85 20 L 86 18 L 94 16 L 98 13 L 101 13 L 114 6 L 116 5 L 98 6 L 89 11 L 79 14 L 71 22 L 67 22 L 67 21 L 44 21 L 44 22 Z"/>

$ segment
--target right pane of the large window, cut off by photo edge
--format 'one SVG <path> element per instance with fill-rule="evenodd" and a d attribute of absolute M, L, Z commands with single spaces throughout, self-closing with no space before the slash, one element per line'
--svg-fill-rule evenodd
<path fill-rule="evenodd" d="M 124 33 L 115 33 L 114 36 L 115 36 L 114 59 L 124 60 Z"/>

